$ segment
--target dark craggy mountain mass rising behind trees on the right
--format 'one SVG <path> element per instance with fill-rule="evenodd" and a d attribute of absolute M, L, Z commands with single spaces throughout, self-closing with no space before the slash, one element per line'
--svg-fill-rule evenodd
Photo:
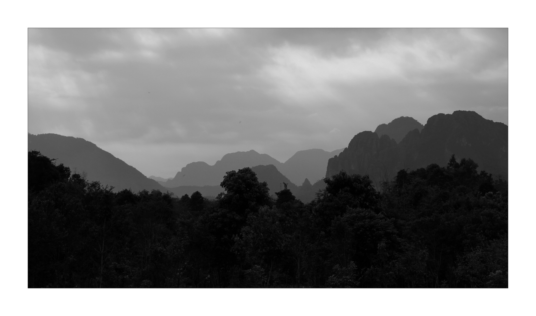
<path fill-rule="evenodd" d="M 450 156 L 471 158 L 494 175 L 508 177 L 508 126 L 483 118 L 474 111 L 437 114 L 428 119 L 421 131 L 415 129 L 396 143 L 387 135 L 364 131 L 327 164 L 326 177 L 340 170 L 368 174 L 379 184 L 400 169 L 411 170 L 431 163 L 446 165 Z"/>

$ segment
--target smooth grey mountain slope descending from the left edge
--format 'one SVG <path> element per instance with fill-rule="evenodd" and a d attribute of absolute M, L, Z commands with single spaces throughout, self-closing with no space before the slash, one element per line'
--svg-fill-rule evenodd
<path fill-rule="evenodd" d="M 28 133 L 28 151 L 32 149 L 56 158 L 58 164 L 63 163 L 71 168 L 71 173 L 75 170 L 79 174 L 86 172 L 88 180 L 114 186 L 114 191 L 129 188 L 135 192 L 153 189 L 165 191 L 155 180 L 83 138 Z"/>

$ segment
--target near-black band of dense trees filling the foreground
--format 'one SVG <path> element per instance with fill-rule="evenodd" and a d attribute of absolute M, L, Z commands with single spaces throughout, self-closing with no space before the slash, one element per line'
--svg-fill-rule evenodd
<path fill-rule="evenodd" d="M 208 200 L 88 182 L 28 152 L 28 287 L 508 287 L 508 183 L 452 156 L 308 204 L 250 168 Z"/>

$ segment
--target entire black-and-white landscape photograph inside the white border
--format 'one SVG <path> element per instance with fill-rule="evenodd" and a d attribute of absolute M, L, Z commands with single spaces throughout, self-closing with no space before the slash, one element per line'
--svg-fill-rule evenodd
<path fill-rule="evenodd" d="M 508 29 L 28 29 L 29 288 L 508 288 Z"/>

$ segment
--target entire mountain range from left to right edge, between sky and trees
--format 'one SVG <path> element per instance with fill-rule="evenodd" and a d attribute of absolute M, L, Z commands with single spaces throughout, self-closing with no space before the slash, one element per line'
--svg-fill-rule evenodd
<path fill-rule="evenodd" d="M 272 194 L 287 183 L 296 198 L 308 202 L 325 187 L 322 178 L 340 170 L 368 174 L 378 185 L 382 180 L 392 179 L 400 169 L 416 169 L 431 163 L 445 165 L 452 154 L 458 159 L 473 159 L 480 170 L 508 177 L 508 126 L 473 111 L 437 114 L 424 126 L 411 117 L 399 117 L 379 125 L 375 132 L 356 134 L 344 150 L 308 149 L 296 152 L 285 163 L 253 150 L 229 153 L 214 165 L 189 163 L 168 179 L 147 178 L 82 138 L 28 133 L 28 150 L 32 149 L 57 159 L 57 163 L 70 167 L 72 172 L 84 172 L 88 180 L 112 185 L 116 191 L 161 190 L 178 196 L 199 191 L 215 197 L 223 191 L 220 183 L 226 171 L 251 167 L 260 182 L 267 182 Z"/>

